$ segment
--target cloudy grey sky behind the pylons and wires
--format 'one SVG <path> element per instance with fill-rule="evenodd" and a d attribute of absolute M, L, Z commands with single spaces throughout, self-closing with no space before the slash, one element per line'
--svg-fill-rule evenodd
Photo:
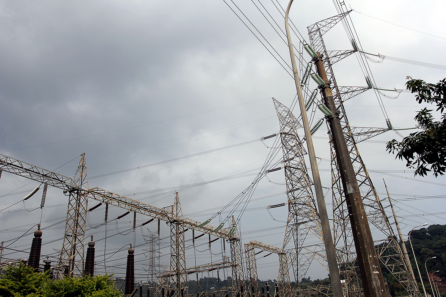
<path fill-rule="evenodd" d="M 69 177 L 85 153 L 90 188 L 156 207 L 171 205 L 178 191 L 183 216 L 207 220 L 244 191 L 262 167 L 274 140 L 262 143 L 260 138 L 279 130 L 272 98 L 289 107 L 296 96 L 279 4 L 287 5 L 284 1 L 0 1 L 0 153 Z M 353 9 L 350 17 L 364 51 L 446 65 L 444 1 L 421 5 L 350 0 L 346 5 Z M 306 27 L 336 14 L 331 1 L 296 1 L 290 20 L 308 42 Z M 297 36 L 292 38 L 298 45 Z M 324 35 L 324 41 L 329 50 L 351 49 L 341 23 Z M 302 55 L 310 61 L 306 53 Z M 376 86 L 384 89 L 405 89 L 407 76 L 427 82 L 445 77 L 444 66 L 367 61 Z M 366 85 L 355 55 L 333 68 L 338 85 Z M 311 80 L 309 84 L 310 89 L 316 87 Z M 426 106 L 404 92 L 381 100 L 397 128 L 414 127 L 416 111 Z M 371 90 L 348 100 L 345 107 L 351 126 L 386 126 L 387 117 Z M 298 117 L 298 110 L 293 113 Z M 322 117 L 316 111 L 312 124 Z M 400 133 L 407 136 L 413 131 Z M 396 200 L 403 234 L 424 223 L 446 224 L 445 178 L 414 177 L 403 161 L 385 151 L 385 143 L 393 138 L 401 140 L 389 131 L 358 145 L 388 216 L 383 179 Z M 330 187 L 325 124 L 314 134 L 314 145 L 321 158 L 322 186 Z M 258 240 L 281 247 L 285 231 L 281 221 L 286 220 L 287 209 L 278 207 L 270 214 L 266 206 L 286 202 L 284 183 L 283 171 L 258 183 L 240 220 L 243 243 Z M 1 209 L 20 202 L 38 185 L 3 173 Z M 20 202 L 0 212 L 1 241 L 11 244 L 39 222 L 42 228 L 62 222 L 45 229 L 42 237 L 42 255 L 55 256 L 62 246 L 67 197 L 50 187 L 45 207 L 28 212 L 40 206 L 40 195 L 41 190 L 25 205 Z M 330 209 L 329 191 L 326 203 Z M 95 204 L 89 201 L 89 207 Z M 110 207 L 109 218 L 124 212 Z M 222 212 L 211 224 L 218 225 L 227 215 Z M 103 206 L 89 213 L 87 228 L 101 224 L 103 216 Z M 138 225 L 146 220 L 137 216 Z M 136 280 L 144 282 L 147 228 L 157 232 L 156 221 L 122 235 L 131 228 L 128 215 L 119 224 L 108 224 L 107 231 L 105 226 L 90 228 L 86 238 L 94 235 L 96 255 L 110 257 L 106 265 L 113 267 L 107 272 L 116 277 L 125 276 L 126 250 L 135 242 Z M 22 252 L 5 250 L 5 258 L 28 257 L 33 236 L 26 234 L 9 246 Z M 157 261 L 167 265 L 170 244 L 165 224 L 160 238 Z M 186 266 L 221 258 L 221 241 L 210 253 L 206 238 L 197 240 L 195 249 L 190 239 L 186 233 Z M 258 260 L 261 279 L 277 278 L 273 257 Z M 103 263 L 96 266 L 97 273 L 105 272 L 99 266 Z M 223 273 L 227 277 L 230 271 Z M 307 276 L 322 279 L 326 273 L 315 264 Z M 215 272 L 200 275 L 209 276 L 216 277 Z"/>

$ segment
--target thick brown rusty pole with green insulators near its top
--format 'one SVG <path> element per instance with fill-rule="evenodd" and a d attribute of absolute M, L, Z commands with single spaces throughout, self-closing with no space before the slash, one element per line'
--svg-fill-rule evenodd
<path fill-rule="evenodd" d="M 347 208 L 350 216 L 353 240 L 359 264 L 359 272 L 363 284 L 364 295 L 366 297 L 388 297 L 384 284 L 384 277 L 381 272 L 378 256 L 376 256 L 375 244 L 372 233 L 368 225 L 367 216 L 364 210 L 361 193 L 359 192 L 358 181 L 355 170 L 350 159 L 350 152 L 344 138 L 339 113 L 336 110 L 333 94 L 331 93 L 330 82 L 328 81 L 322 56 L 317 53 L 313 58 L 319 76 L 325 82 L 322 85 L 322 96 L 326 107 L 333 113 L 328 117 L 332 133 L 332 141 L 335 146 L 336 159 L 338 159 L 339 173 L 347 200 Z"/>

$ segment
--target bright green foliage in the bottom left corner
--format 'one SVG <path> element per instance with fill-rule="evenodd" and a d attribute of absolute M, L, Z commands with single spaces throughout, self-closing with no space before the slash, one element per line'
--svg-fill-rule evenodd
<path fill-rule="evenodd" d="M 47 273 L 36 273 L 25 264 L 10 265 L 4 273 L 2 297 L 122 297 L 108 275 L 50 281 Z"/>

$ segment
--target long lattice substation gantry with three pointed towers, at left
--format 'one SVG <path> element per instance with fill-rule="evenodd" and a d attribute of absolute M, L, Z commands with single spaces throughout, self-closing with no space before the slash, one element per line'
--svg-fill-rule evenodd
<path fill-rule="evenodd" d="M 157 208 L 149 204 L 133 200 L 122 195 L 103 190 L 99 187 L 88 188 L 87 167 L 85 165 L 85 154 L 81 155 L 78 170 L 74 179 L 64 175 L 46 170 L 41 167 L 14 159 L 12 157 L 0 154 L 0 171 L 6 171 L 14 175 L 19 175 L 27 179 L 44 183 L 59 189 L 69 195 L 68 211 L 66 218 L 65 235 L 59 267 L 58 277 L 63 277 L 63 268 L 68 268 L 68 275 L 79 277 L 83 275 L 84 266 L 84 236 L 85 223 L 87 218 L 88 198 L 107 203 L 113 206 L 124 208 L 130 212 L 140 213 L 151 216 L 155 219 L 171 224 L 171 263 L 170 271 L 166 273 L 169 287 L 174 289 L 173 296 L 181 297 L 181 292 L 187 295 L 187 269 L 184 256 L 184 231 L 194 229 L 227 240 L 231 247 L 230 264 L 223 263 L 217 267 L 232 268 L 232 292 L 240 290 L 244 284 L 244 273 L 242 268 L 242 255 L 240 246 L 240 237 L 237 232 L 235 220 L 232 218 L 232 225 L 229 228 L 215 228 L 209 224 L 200 223 L 195 220 L 182 217 L 178 193 L 175 196 L 175 203 L 172 206 Z M 214 268 L 214 267 L 212 267 Z M 205 265 L 201 268 L 192 268 L 192 270 L 206 270 Z M 66 269 L 65 269 L 66 270 Z M 170 279 L 173 278 L 173 281 Z"/>

